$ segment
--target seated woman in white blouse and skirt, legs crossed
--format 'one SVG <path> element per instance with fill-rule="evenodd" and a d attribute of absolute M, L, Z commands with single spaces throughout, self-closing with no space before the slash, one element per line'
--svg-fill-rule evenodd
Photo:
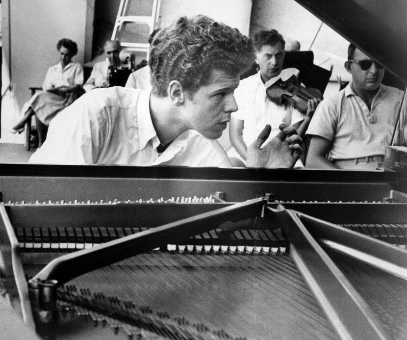
<path fill-rule="evenodd" d="M 21 133 L 24 126 L 36 115 L 41 123 L 48 126 L 53 117 L 62 109 L 71 105 L 83 93 L 83 68 L 79 63 L 71 62 L 77 53 L 76 42 L 71 39 L 61 39 L 56 44 L 61 62 L 51 66 L 42 85 L 43 91 L 34 94 L 23 106 L 24 117 L 10 130 L 11 133 Z M 37 126 L 38 147 L 42 145 L 42 125 Z"/>

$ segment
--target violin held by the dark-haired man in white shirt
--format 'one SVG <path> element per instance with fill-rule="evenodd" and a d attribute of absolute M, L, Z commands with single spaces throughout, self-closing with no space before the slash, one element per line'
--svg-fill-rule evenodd
<path fill-rule="evenodd" d="M 287 80 L 277 80 L 266 89 L 267 98 L 279 105 L 291 104 L 302 112 L 308 109 L 308 100 L 322 99 L 320 90 L 312 87 L 301 86 L 297 77 L 292 76 Z"/>

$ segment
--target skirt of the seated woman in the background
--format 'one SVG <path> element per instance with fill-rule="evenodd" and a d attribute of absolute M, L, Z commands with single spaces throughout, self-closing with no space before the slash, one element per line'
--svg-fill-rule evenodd
<path fill-rule="evenodd" d="M 37 118 L 45 125 L 50 125 L 53 117 L 62 111 L 68 105 L 74 103 L 77 98 L 76 93 L 68 93 L 65 96 L 59 96 L 50 92 L 37 92 L 29 100 L 29 106 L 35 112 Z"/>

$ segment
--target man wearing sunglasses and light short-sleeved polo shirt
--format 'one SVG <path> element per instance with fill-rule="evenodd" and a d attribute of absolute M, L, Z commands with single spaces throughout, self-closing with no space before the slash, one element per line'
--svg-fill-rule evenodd
<path fill-rule="evenodd" d="M 306 131 L 311 137 L 306 167 L 382 167 L 403 92 L 381 84 L 383 66 L 353 44 L 349 46 L 345 68 L 352 81 L 337 95 L 321 102 Z M 400 118 L 405 122 L 406 114 Z"/>

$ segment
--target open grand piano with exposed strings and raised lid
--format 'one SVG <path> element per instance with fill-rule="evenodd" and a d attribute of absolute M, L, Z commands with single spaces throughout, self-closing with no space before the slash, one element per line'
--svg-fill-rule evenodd
<path fill-rule="evenodd" d="M 404 2 L 298 2 L 407 81 Z M 371 172 L 0 164 L 0 192 L 1 338 L 407 338 L 403 147 Z"/>

